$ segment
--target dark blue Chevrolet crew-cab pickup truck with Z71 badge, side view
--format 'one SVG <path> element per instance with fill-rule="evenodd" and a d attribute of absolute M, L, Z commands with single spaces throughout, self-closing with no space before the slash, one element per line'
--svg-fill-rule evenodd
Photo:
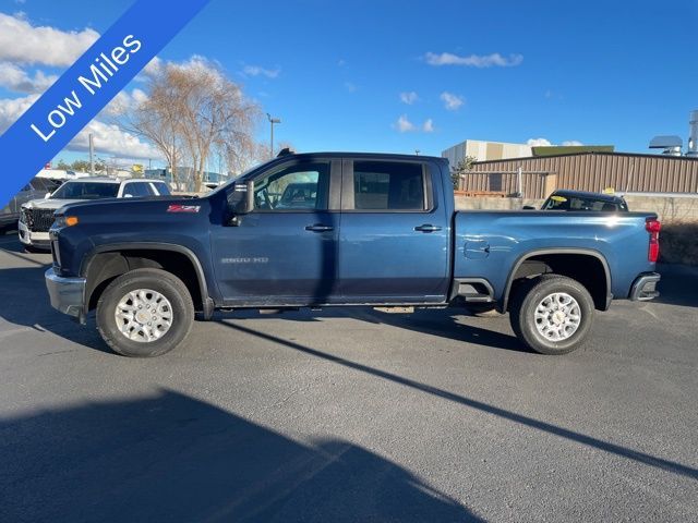
<path fill-rule="evenodd" d="M 200 198 L 57 210 L 46 283 L 128 356 L 174 349 L 215 309 L 469 304 L 562 354 L 613 299 L 658 295 L 659 230 L 648 212 L 457 212 L 442 158 L 286 154 Z"/>

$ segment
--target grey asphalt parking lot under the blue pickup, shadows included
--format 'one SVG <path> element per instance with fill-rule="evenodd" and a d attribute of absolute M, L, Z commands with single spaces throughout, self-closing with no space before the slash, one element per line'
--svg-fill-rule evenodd
<path fill-rule="evenodd" d="M 698 521 L 698 271 L 566 356 L 508 318 L 230 313 L 153 360 L 0 238 L 0 521 Z"/>

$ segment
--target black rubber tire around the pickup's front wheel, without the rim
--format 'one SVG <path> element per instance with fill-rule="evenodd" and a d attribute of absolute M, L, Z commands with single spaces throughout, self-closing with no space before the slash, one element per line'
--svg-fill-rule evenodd
<path fill-rule="evenodd" d="M 165 296 L 171 305 L 171 325 L 160 338 L 154 341 L 129 339 L 121 332 L 115 316 L 117 305 L 122 297 L 139 289 L 155 291 Z M 109 283 L 97 302 L 97 330 L 115 352 L 124 356 L 153 357 L 165 354 L 181 343 L 193 323 L 194 304 L 186 285 L 166 270 L 131 270 Z"/>

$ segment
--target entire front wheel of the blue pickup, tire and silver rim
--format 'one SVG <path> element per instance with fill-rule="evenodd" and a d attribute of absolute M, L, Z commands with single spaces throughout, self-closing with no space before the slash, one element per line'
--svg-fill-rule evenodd
<path fill-rule="evenodd" d="M 115 279 L 97 303 L 97 329 L 119 354 L 153 357 L 186 337 L 194 305 L 186 285 L 160 269 L 135 269 Z"/>

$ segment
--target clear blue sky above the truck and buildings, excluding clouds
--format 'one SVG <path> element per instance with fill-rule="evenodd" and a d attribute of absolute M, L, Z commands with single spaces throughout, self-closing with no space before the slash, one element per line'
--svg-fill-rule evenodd
<path fill-rule="evenodd" d="M 3 1 L 0 12 L 103 33 L 128 4 Z M 698 109 L 696 27 L 696 1 L 212 0 L 160 58 L 218 61 L 302 151 L 440 155 L 466 138 L 545 138 L 647 153 L 657 134 L 685 139 Z"/>

